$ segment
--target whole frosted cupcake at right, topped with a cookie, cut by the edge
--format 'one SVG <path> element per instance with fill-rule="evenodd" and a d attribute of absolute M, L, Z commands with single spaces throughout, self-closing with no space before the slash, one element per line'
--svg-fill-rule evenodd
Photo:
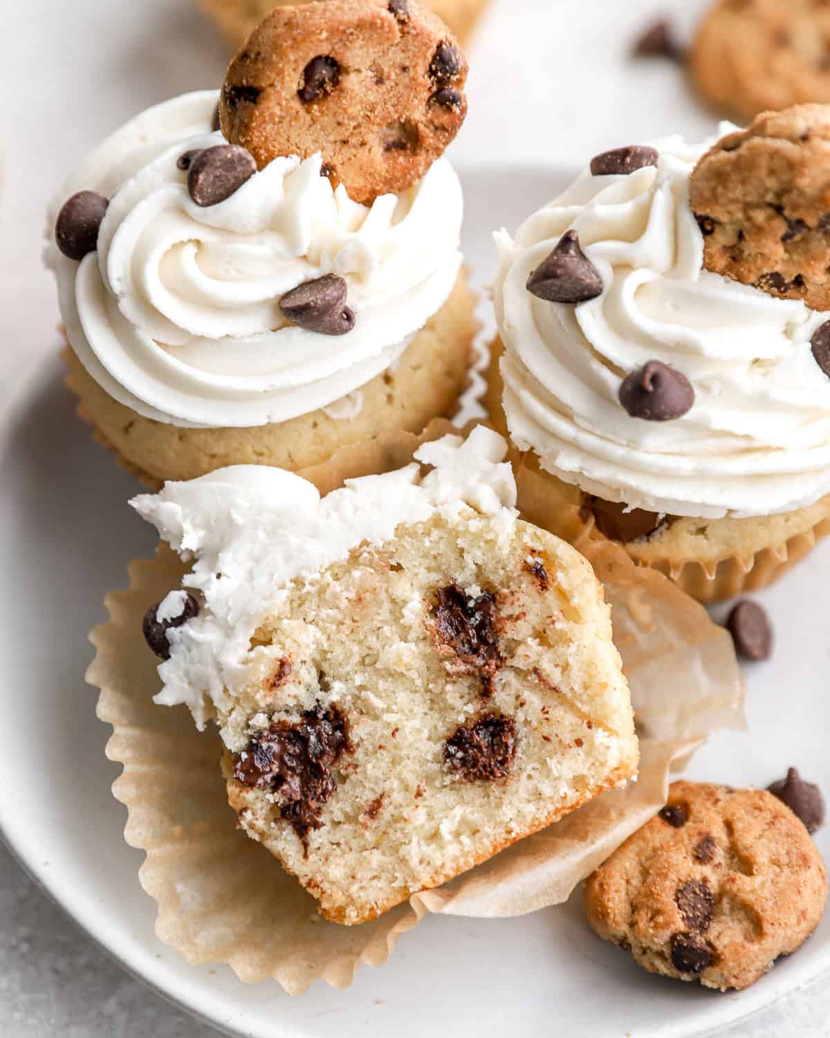
<path fill-rule="evenodd" d="M 529 519 L 701 601 L 828 531 L 828 127 L 814 106 L 605 153 L 497 235 L 490 399 Z"/>

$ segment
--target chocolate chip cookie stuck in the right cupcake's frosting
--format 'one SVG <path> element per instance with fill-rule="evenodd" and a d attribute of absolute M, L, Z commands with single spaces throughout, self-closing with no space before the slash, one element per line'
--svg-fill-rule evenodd
<path fill-rule="evenodd" d="M 695 167 L 690 200 L 707 270 L 830 309 L 830 105 L 727 134 Z"/>

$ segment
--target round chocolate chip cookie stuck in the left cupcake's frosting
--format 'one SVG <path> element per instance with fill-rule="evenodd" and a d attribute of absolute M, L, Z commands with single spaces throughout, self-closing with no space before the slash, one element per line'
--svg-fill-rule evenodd
<path fill-rule="evenodd" d="M 231 61 L 222 131 L 261 169 L 321 152 L 324 171 L 369 204 L 411 187 L 467 114 L 467 60 L 416 0 L 278 7 Z"/>

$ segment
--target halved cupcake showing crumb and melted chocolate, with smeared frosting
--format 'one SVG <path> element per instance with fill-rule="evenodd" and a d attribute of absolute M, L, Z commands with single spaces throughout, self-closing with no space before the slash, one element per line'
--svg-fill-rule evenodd
<path fill-rule="evenodd" d="M 636 773 L 602 585 L 518 518 L 506 452 L 478 427 L 323 497 L 234 466 L 133 501 L 187 565 L 147 603 L 156 702 L 218 728 L 241 827 L 333 922 Z"/>

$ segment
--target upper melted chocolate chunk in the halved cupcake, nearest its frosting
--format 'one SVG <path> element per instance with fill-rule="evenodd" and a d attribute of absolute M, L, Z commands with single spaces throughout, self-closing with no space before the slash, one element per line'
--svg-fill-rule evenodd
<path fill-rule="evenodd" d="M 471 598 L 459 584 L 450 584 L 438 592 L 434 616 L 436 637 L 452 650 L 454 668 L 479 677 L 485 695 L 491 695 L 502 664 L 495 597 L 486 591 Z"/>

